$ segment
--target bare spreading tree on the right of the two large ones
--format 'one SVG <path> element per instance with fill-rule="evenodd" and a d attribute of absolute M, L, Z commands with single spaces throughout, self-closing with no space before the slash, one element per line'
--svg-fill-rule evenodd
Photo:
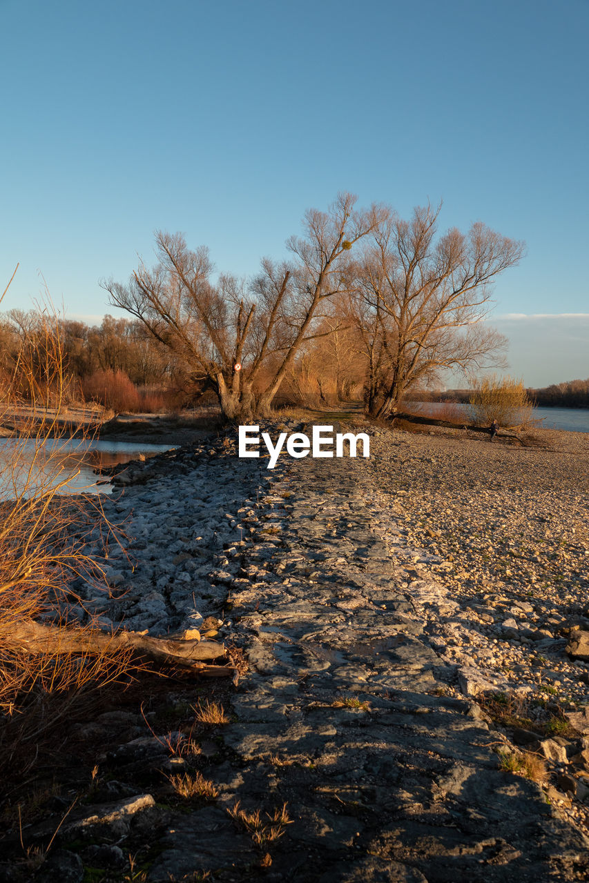
<path fill-rule="evenodd" d="M 439 214 L 430 206 L 416 208 L 409 222 L 391 214 L 356 268 L 356 291 L 375 323 L 371 346 L 378 343 L 388 361 L 384 395 L 370 402 L 378 416 L 397 411 L 411 386 L 442 369 L 497 364 L 506 344 L 479 323 L 491 306 L 490 283 L 520 260 L 524 244 L 483 223 L 436 239 Z"/>

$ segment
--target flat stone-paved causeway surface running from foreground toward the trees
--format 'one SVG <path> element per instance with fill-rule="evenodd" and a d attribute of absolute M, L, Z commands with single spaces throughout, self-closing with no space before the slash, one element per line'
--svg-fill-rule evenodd
<path fill-rule="evenodd" d="M 353 461 L 280 462 L 279 542 L 258 534 L 251 556 L 273 578 L 233 583 L 251 671 L 224 730 L 243 770 L 231 799 L 286 802 L 293 821 L 272 867 L 240 859 L 235 879 L 583 879 L 584 836 L 537 784 L 499 769 L 501 739 L 478 706 L 444 695 L 455 669 L 428 642 L 357 482 Z M 419 604 L 446 603 L 419 587 Z"/>

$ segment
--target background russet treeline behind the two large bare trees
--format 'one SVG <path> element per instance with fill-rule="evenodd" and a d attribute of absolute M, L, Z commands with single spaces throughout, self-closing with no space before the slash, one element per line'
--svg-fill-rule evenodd
<path fill-rule="evenodd" d="M 382 393 L 394 374 L 394 332 L 386 338 L 387 345 L 383 344 L 383 352 L 375 362 L 376 338 L 364 334 L 365 321 L 365 317 L 352 312 L 334 312 L 317 320 L 316 333 L 305 342 L 284 377 L 277 403 L 333 406 L 363 397 L 367 402 L 367 384 L 374 383 Z M 348 324 L 342 325 L 345 322 Z M 198 371 L 189 353 L 168 346 L 164 326 L 154 324 L 161 339 L 139 320 L 106 315 L 100 325 L 90 326 L 83 321 L 57 319 L 52 333 L 58 332 L 65 400 L 70 404 L 94 401 L 114 411 L 215 404 L 217 396 L 210 379 Z M 42 372 L 46 330 L 42 313 L 34 310 L 0 313 L 0 401 L 3 390 L 11 386 L 12 375 L 18 376 L 24 365 L 35 376 Z M 370 344 L 368 350 L 364 348 L 366 342 Z M 376 374 L 372 376 L 371 372 Z M 265 376 L 262 372 L 258 378 L 261 389 Z M 470 404 L 476 391 L 416 389 L 420 382 L 422 377 L 408 383 L 402 407 L 410 410 L 412 402 Z M 533 404 L 589 408 L 589 379 L 526 391 Z"/>

